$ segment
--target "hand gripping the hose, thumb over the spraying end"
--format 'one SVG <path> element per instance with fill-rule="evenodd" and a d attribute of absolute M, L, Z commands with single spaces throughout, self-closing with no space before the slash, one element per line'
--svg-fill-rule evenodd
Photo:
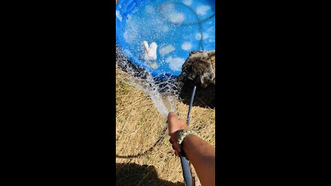
<path fill-rule="evenodd" d="M 189 130 L 188 124 L 185 120 L 179 119 L 174 112 L 169 112 L 168 114 L 168 132 L 170 136 L 170 143 L 172 144 L 172 149 L 174 149 L 174 154 L 179 156 L 181 149 L 178 145 L 178 134 L 182 130 Z"/>

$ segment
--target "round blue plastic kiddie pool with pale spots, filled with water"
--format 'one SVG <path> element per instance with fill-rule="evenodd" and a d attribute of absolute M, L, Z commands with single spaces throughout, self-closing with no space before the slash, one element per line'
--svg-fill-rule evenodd
<path fill-rule="evenodd" d="M 119 0 L 116 43 L 130 62 L 152 76 L 176 77 L 194 50 L 215 49 L 212 0 Z M 143 41 L 157 43 L 154 65 L 142 59 Z M 155 65 L 156 64 L 156 65 Z"/>

